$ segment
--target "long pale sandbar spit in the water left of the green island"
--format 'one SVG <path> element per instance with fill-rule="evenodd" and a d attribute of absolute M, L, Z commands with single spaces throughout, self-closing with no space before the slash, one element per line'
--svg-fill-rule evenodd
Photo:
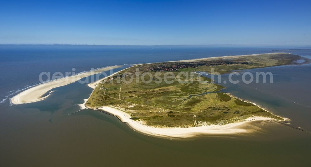
<path fill-rule="evenodd" d="M 14 97 L 11 98 L 11 103 L 12 104 L 24 104 L 24 103 L 32 103 L 32 102 L 44 100 L 45 98 L 49 97 L 49 95 L 51 94 L 46 95 L 44 97 L 42 96 L 53 88 L 64 86 L 72 82 L 78 81 L 84 77 L 95 75 L 95 74 L 108 71 L 114 68 L 118 68 L 118 67 L 122 67 L 122 66 L 119 65 L 119 66 L 99 68 L 99 69 L 88 71 L 88 72 L 78 73 L 77 75 L 74 75 L 74 76 L 63 77 L 63 78 L 59 78 L 59 79 L 52 80 L 49 82 L 44 82 L 42 84 L 31 87 L 30 89 L 24 90 L 21 93 L 15 95 Z"/>

